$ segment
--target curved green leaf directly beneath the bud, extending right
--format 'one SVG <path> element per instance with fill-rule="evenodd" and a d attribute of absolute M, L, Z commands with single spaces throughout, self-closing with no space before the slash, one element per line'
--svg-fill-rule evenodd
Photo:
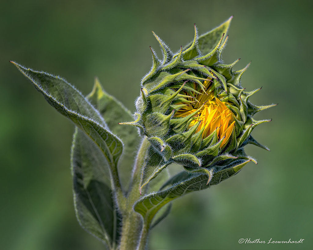
<path fill-rule="evenodd" d="M 196 177 L 183 180 L 165 191 L 159 191 L 146 195 L 134 204 L 134 209 L 136 212 L 139 212 L 143 216 L 144 221 L 149 225 L 156 212 L 168 202 L 187 193 L 206 189 L 211 185 L 216 185 L 221 181 L 232 177 L 233 175 L 238 173 L 239 170 L 249 161 L 251 160 L 214 173 L 211 182 L 208 183 L 208 185 L 208 176 L 201 174 Z"/>

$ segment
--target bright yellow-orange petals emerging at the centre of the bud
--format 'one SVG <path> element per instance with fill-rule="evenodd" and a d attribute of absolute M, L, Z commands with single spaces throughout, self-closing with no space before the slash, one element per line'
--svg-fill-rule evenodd
<path fill-rule="evenodd" d="M 210 80 L 210 78 L 208 79 Z M 195 119 L 192 120 L 189 127 L 192 127 L 201 121 L 197 132 L 204 127 L 202 138 L 208 137 L 216 130 L 218 139 L 225 136 L 225 139 L 220 145 L 220 148 L 222 148 L 228 142 L 235 125 L 233 113 L 223 102 L 214 97 L 214 93 L 211 89 L 211 81 L 204 81 L 203 85 L 207 88 L 207 91 L 203 92 L 203 90 L 201 90 L 199 91 L 200 93 L 193 92 L 192 94 L 194 94 L 194 97 L 191 96 L 190 92 L 183 91 L 184 94 L 190 96 L 190 98 L 186 98 L 188 102 L 177 103 L 185 104 L 186 106 L 180 108 L 175 113 L 175 117 L 186 117 L 187 115 L 196 112 L 196 110 L 201 108 L 204 103 L 200 111 L 195 114 Z M 196 88 L 196 85 L 194 87 Z"/>

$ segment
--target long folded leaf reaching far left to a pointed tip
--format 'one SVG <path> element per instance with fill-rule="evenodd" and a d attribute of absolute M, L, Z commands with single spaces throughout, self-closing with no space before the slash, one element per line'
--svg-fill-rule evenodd
<path fill-rule="evenodd" d="M 14 64 L 32 81 L 34 87 L 44 95 L 52 107 L 69 118 L 98 145 L 110 167 L 113 183 L 120 186 L 116 166 L 122 154 L 123 143 L 109 131 L 100 113 L 63 78 Z"/>

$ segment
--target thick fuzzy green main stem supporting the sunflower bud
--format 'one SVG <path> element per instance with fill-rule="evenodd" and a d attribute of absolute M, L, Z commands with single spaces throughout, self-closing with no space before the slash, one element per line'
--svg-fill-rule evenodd
<path fill-rule="evenodd" d="M 121 208 L 123 226 L 120 250 L 135 250 L 137 249 L 139 240 L 142 239 L 142 235 L 140 235 L 140 232 L 142 231 L 142 216 L 134 211 L 133 205 L 140 197 L 140 170 L 144 164 L 146 152 L 149 146 L 149 141 L 144 138 L 137 153 L 136 162 L 132 172 L 130 190 L 126 198 L 126 204 Z M 147 233 L 144 237 L 147 237 Z"/>

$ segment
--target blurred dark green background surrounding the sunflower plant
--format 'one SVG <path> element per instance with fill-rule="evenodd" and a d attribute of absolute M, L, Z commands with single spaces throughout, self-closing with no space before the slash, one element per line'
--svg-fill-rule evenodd
<path fill-rule="evenodd" d="M 279 103 L 249 145 L 259 164 L 174 202 L 149 249 L 313 249 L 312 3 L 307 1 L 1 1 L 0 248 L 104 249 L 75 218 L 70 175 L 74 126 L 12 65 L 59 74 L 84 94 L 98 76 L 134 111 L 151 67 L 151 30 L 172 50 L 234 15 L 223 59 L 242 84 L 263 86 L 251 101 Z M 302 244 L 239 244 L 240 238 Z"/>

